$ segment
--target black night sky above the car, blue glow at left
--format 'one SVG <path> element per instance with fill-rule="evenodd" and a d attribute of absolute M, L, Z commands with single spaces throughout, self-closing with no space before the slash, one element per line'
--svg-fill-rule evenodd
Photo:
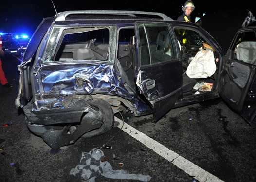
<path fill-rule="evenodd" d="M 152 11 L 164 13 L 176 20 L 181 15 L 181 7 L 186 0 L 53 0 L 57 12 L 67 10 L 132 10 Z M 193 0 L 195 11 L 192 20 L 201 17 L 203 13 L 214 12 L 220 9 L 248 9 L 255 16 L 255 5 L 249 0 L 242 4 L 225 0 Z M 224 4 L 223 4 L 224 3 Z M 55 15 L 51 0 L 0 0 L 0 32 L 26 33 L 32 35 L 45 17 Z"/>

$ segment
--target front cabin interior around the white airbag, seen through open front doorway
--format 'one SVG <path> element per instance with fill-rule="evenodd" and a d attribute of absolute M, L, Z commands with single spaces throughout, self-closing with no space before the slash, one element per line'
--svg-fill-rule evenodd
<path fill-rule="evenodd" d="M 180 44 L 180 50 L 182 53 L 182 65 L 183 65 L 183 98 L 189 98 L 195 94 L 203 94 L 205 92 L 213 91 L 217 84 L 217 74 L 219 71 L 219 55 L 216 53 L 207 41 L 200 36 L 194 30 L 175 28 L 175 33 L 177 35 L 178 43 Z M 201 50 L 211 50 L 214 56 L 214 64 L 216 65 L 216 70 L 214 74 L 207 77 L 190 78 L 187 75 L 187 70 L 192 61 L 194 63 L 196 60 L 195 56 Z M 203 59 L 203 57 L 202 57 Z M 205 58 L 205 61 L 207 61 Z M 199 62 L 199 64 L 201 64 Z M 207 69 L 207 64 L 203 65 Z M 212 65 L 211 65 L 212 66 Z M 197 68 L 194 66 L 194 69 Z M 201 67 L 200 67 L 201 68 Z"/>

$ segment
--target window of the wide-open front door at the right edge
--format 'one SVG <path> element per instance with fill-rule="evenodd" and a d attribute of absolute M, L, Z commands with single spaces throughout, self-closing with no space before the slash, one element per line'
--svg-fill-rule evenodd
<path fill-rule="evenodd" d="M 253 31 L 238 34 L 232 50 L 233 59 L 256 65 L 256 34 Z"/>

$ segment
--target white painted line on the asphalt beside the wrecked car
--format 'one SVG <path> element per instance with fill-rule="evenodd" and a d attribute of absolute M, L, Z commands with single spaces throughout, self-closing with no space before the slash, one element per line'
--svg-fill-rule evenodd
<path fill-rule="evenodd" d="M 115 117 L 115 121 L 120 122 L 120 125 L 118 127 L 122 128 L 123 121 L 118 119 L 117 117 Z M 128 125 L 127 123 L 124 123 L 122 130 L 124 132 L 127 132 L 130 136 L 132 136 L 136 140 L 140 141 L 149 149 L 152 149 L 154 152 L 164 157 L 166 160 L 168 160 L 172 164 L 176 165 L 177 167 L 185 171 L 190 176 L 193 176 L 199 182 L 224 182 L 220 180 L 218 177 L 205 171 L 198 165 L 193 164 L 192 162 L 186 160 L 176 152 L 166 148 L 162 144 L 148 137 L 146 134 L 136 130 L 135 128 Z"/>

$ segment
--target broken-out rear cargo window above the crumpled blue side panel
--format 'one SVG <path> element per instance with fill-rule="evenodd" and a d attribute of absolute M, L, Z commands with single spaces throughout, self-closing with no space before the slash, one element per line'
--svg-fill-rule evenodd
<path fill-rule="evenodd" d="M 52 58 L 48 58 L 48 60 L 61 62 L 81 60 L 107 61 L 109 37 L 109 28 L 93 27 L 63 30 L 55 52 Z"/>

